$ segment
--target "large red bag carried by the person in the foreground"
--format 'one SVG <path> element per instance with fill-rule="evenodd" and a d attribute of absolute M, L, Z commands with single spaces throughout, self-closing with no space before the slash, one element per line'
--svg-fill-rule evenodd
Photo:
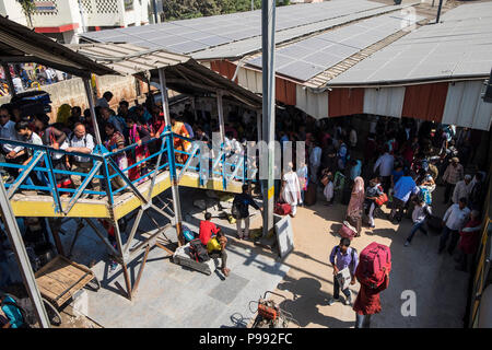
<path fill-rule="evenodd" d="M 383 268 L 391 270 L 391 252 L 386 245 L 373 242 L 361 252 L 355 276 L 359 282 L 374 289 L 385 280 Z"/>

